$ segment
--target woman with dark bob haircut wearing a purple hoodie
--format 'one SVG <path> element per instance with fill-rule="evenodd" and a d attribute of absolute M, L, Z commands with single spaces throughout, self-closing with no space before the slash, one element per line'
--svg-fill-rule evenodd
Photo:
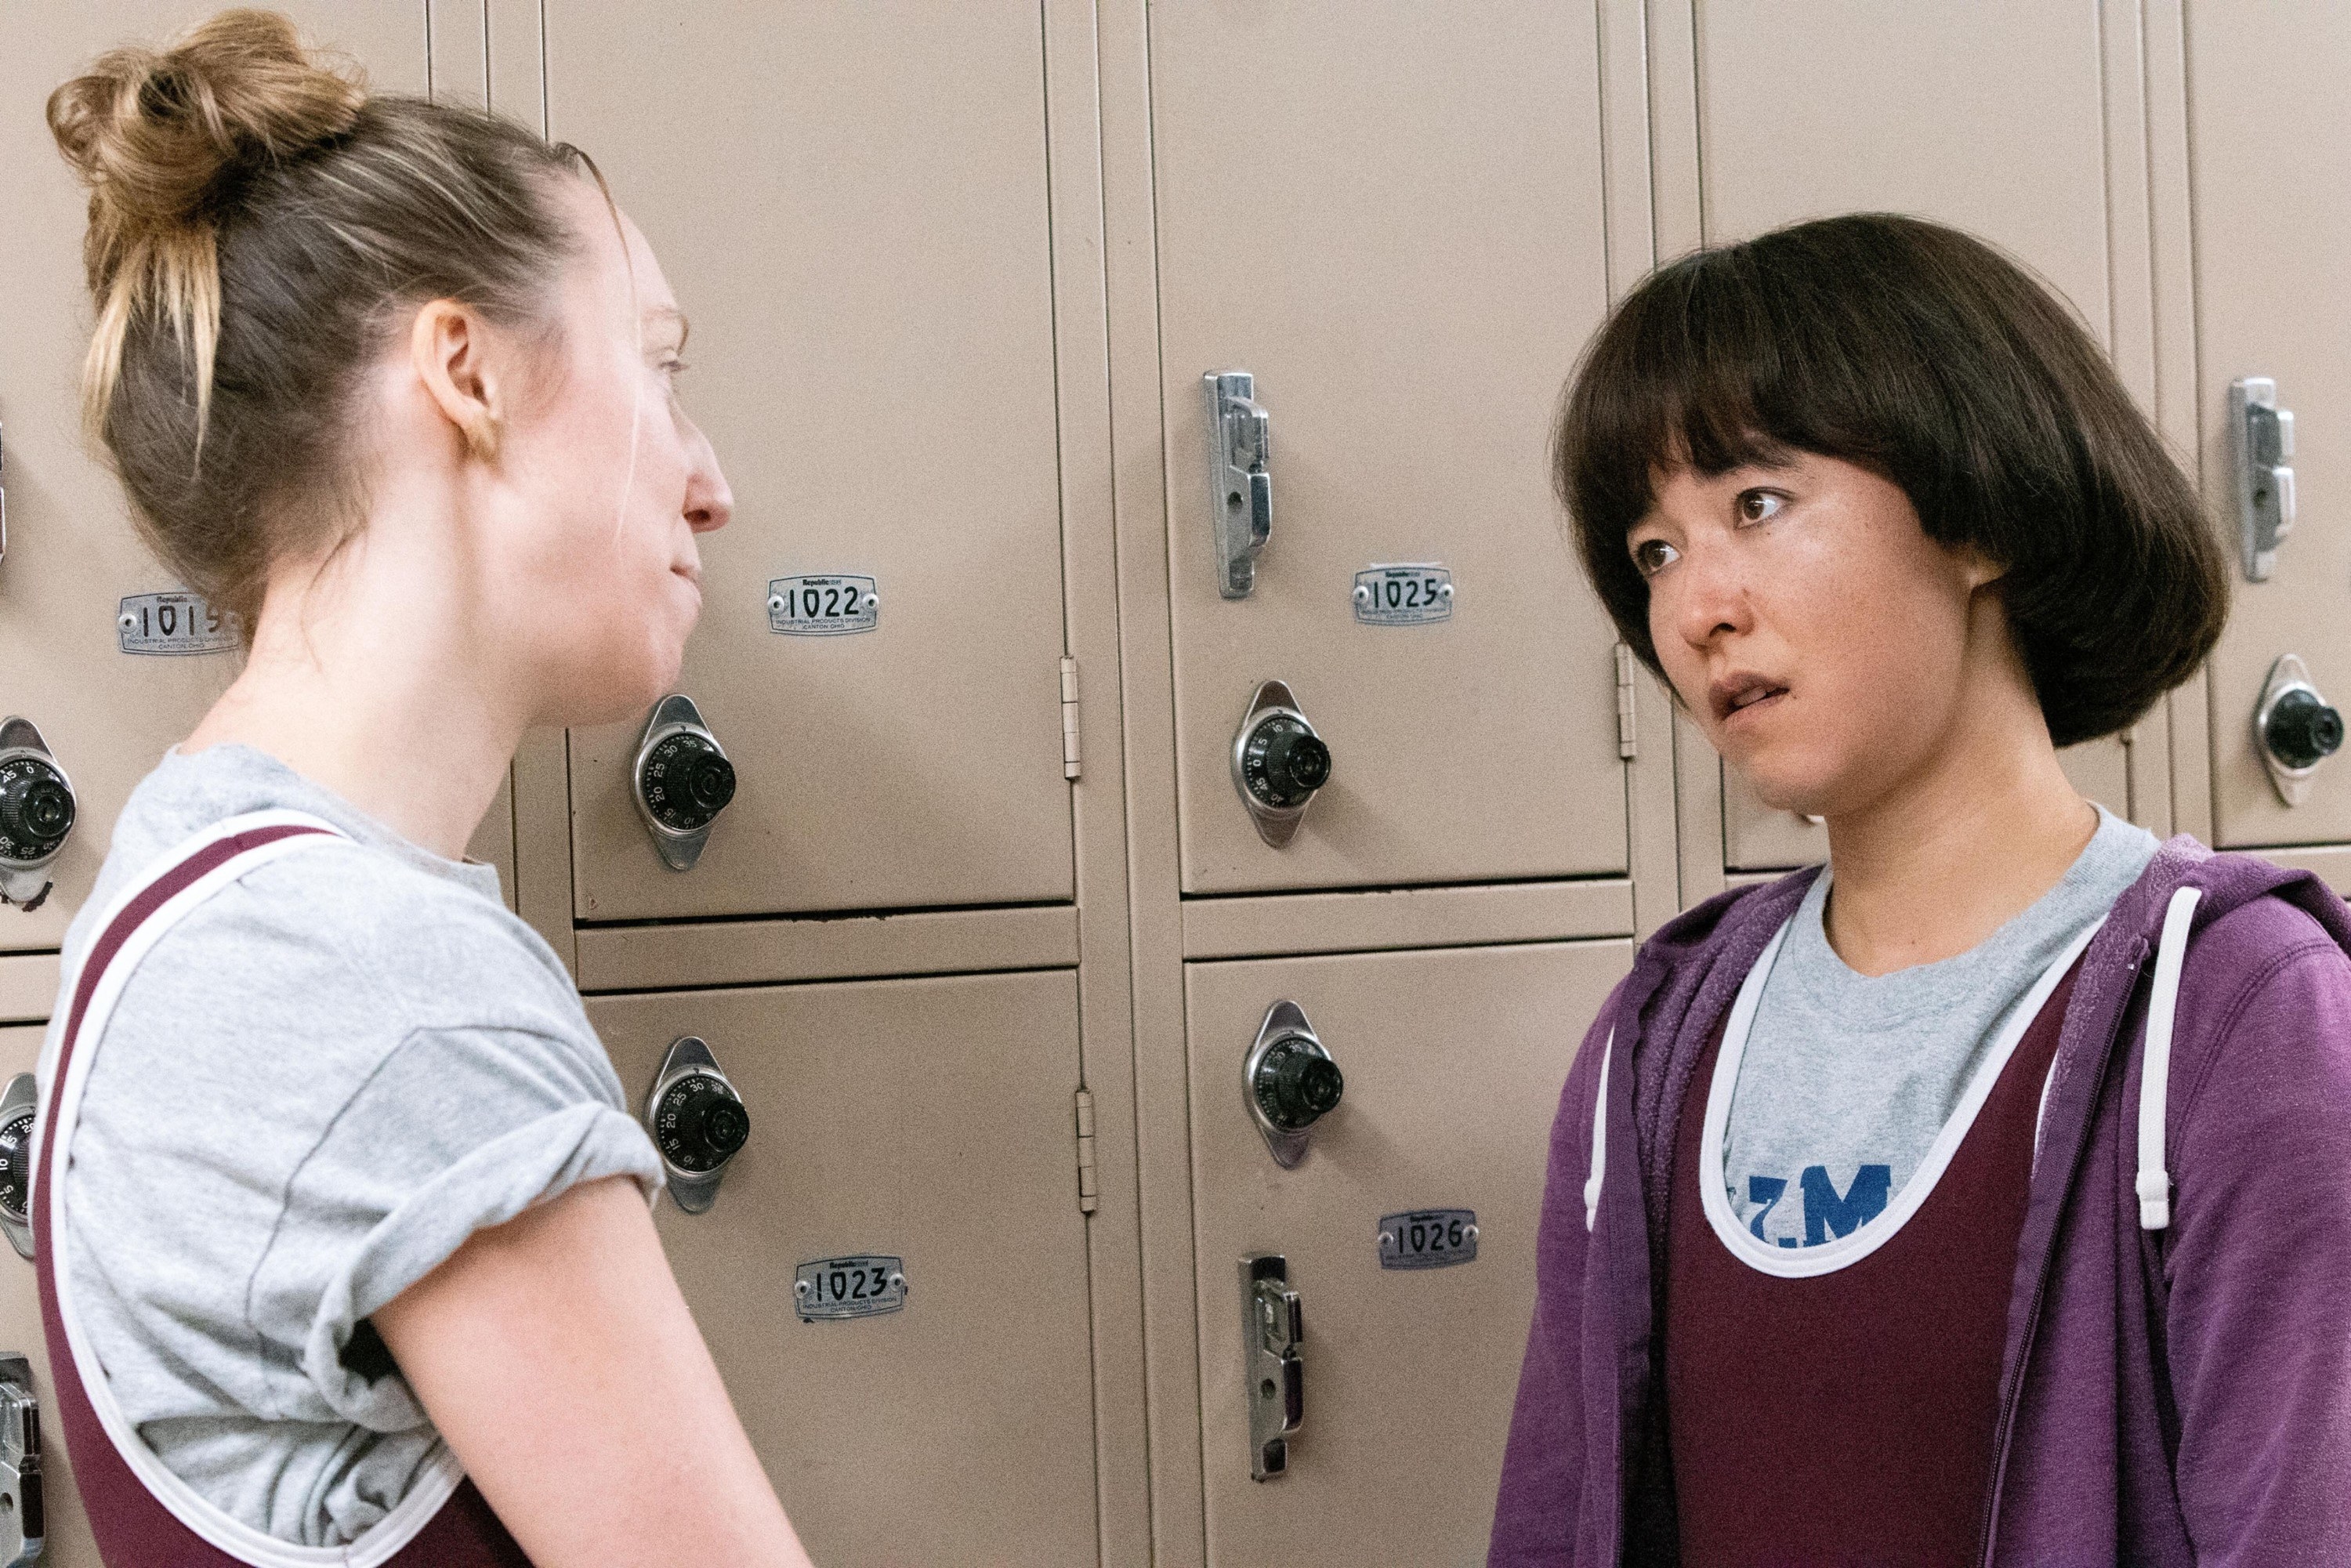
<path fill-rule="evenodd" d="M 1965 235 L 1803 223 L 1625 299 L 1559 480 L 1829 865 L 1585 1039 L 1491 1561 L 2351 1563 L 2351 912 L 2057 764 L 2224 614 L 2095 343 Z"/>

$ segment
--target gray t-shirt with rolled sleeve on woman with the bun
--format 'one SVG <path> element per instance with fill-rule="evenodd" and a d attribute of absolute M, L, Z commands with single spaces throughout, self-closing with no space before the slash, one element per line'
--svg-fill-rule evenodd
<path fill-rule="evenodd" d="M 158 1458 L 247 1526 L 339 1547 L 442 1448 L 397 1371 L 346 1366 L 355 1324 L 475 1229 L 607 1175 L 654 1192 L 661 1159 L 498 875 L 252 748 L 172 752 L 132 792 L 68 964 L 129 879 L 268 809 L 360 849 L 256 867 L 132 973 L 63 1175 L 68 1262 Z"/>

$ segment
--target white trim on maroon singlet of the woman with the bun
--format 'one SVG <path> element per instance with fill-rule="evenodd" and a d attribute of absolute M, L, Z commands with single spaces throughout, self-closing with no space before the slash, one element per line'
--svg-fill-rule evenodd
<path fill-rule="evenodd" d="M 237 832 L 259 832 L 266 827 L 315 827 L 331 837 L 287 837 L 273 839 L 256 849 L 247 849 L 230 856 L 214 870 L 205 872 L 186 889 L 165 900 L 153 914 L 139 922 L 139 929 L 115 950 L 106 961 L 106 971 L 99 976 L 99 985 L 89 997 L 89 1006 L 82 1013 L 78 1044 L 73 1051 L 73 1067 L 63 1084 L 52 1084 L 49 1074 L 54 1060 L 42 1063 L 42 1084 L 47 1093 L 40 1098 L 40 1117 L 56 1117 L 56 1150 L 52 1159 L 63 1161 L 73 1145 L 73 1128 L 80 1121 L 82 1091 L 89 1084 L 89 1065 L 96 1060 L 99 1044 L 106 1039 L 106 1020 L 122 997 L 122 987 L 129 983 L 132 973 L 139 969 L 139 959 L 155 947 L 165 933 L 179 924 L 190 910 L 202 905 L 207 898 L 230 886 L 247 872 L 301 849 L 313 849 L 322 844 L 353 844 L 334 823 L 327 823 L 301 811 L 252 811 L 247 816 L 233 816 L 223 823 L 214 823 L 205 832 L 195 835 L 169 856 L 148 867 L 146 875 L 136 877 L 132 886 L 118 896 L 108 907 L 106 917 L 92 926 L 92 947 L 106 936 L 115 917 L 122 914 L 129 903 L 153 886 L 160 877 L 169 875 L 174 867 L 186 865 L 193 856 L 202 853 L 209 844 L 233 837 Z M 85 947 L 87 954 L 87 947 Z M 75 966 L 80 971 L 80 964 Z M 71 1009 L 73 990 L 80 985 L 80 973 L 73 976 L 63 990 L 66 1006 Z M 63 1025 L 54 1048 L 63 1048 Z M 33 1128 L 33 1147 L 45 1147 L 40 1143 L 45 1128 Z M 456 1493 L 458 1483 L 465 1479 L 465 1469 L 458 1465 L 449 1446 L 442 1443 L 433 1460 L 428 1460 L 409 1493 L 360 1540 L 348 1547 L 296 1547 L 294 1542 L 277 1540 L 275 1535 L 263 1535 L 249 1523 L 226 1514 L 221 1507 L 197 1495 L 193 1486 L 172 1474 L 169 1467 L 155 1450 L 146 1446 L 139 1429 L 122 1415 L 122 1406 L 115 1403 L 113 1387 L 106 1382 L 106 1368 L 96 1356 L 96 1347 L 89 1345 L 89 1335 L 82 1333 L 80 1319 L 73 1312 L 73 1269 L 68 1267 L 71 1227 L 66 1225 L 66 1182 L 59 1180 L 54 1187 L 47 1182 L 47 1171 L 35 1168 L 33 1173 L 35 1192 L 33 1201 L 49 1204 L 49 1272 L 56 1288 L 56 1314 L 66 1331 L 66 1345 L 73 1352 L 73 1371 L 82 1380 L 82 1392 L 89 1396 L 92 1410 L 99 1415 L 99 1425 L 106 1427 L 106 1436 L 113 1439 L 115 1453 L 129 1465 L 132 1474 L 162 1502 L 174 1519 L 179 1519 L 188 1530 L 202 1537 L 207 1544 L 226 1552 L 240 1563 L 252 1563 L 254 1568 L 381 1568 L 418 1533 L 433 1516 L 440 1514 L 442 1505 Z"/>

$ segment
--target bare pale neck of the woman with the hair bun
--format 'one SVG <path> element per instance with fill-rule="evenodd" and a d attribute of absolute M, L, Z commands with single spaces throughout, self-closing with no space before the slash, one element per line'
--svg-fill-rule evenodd
<path fill-rule="evenodd" d="M 451 562 L 430 550 L 402 562 L 402 536 L 367 529 L 324 567 L 277 574 L 245 672 L 181 750 L 263 750 L 456 860 L 505 783 L 529 708 Z"/>

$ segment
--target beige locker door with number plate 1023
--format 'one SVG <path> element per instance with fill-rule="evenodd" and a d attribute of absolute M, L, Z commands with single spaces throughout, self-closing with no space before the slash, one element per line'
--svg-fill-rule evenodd
<path fill-rule="evenodd" d="M 750 1112 L 677 1281 L 820 1563 L 1096 1561 L 1077 976 L 588 1004 L 630 1095 L 698 1034 Z M 802 1321 L 799 1265 L 900 1260 L 905 1307 Z"/>

